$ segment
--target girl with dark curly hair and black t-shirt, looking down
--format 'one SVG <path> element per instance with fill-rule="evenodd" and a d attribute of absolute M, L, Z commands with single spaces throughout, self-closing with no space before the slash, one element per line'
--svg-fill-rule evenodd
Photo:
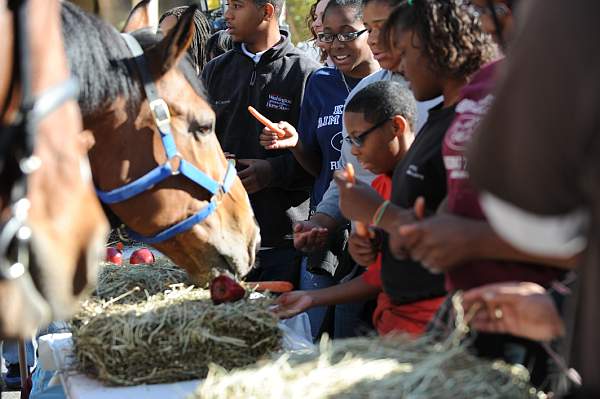
<path fill-rule="evenodd" d="M 474 10 L 460 0 L 403 2 L 390 15 L 382 38 L 384 48 L 389 48 L 395 59 L 395 69 L 407 79 L 417 100 L 444 97 L 429 111 L 427 122 L 396 167 L 390 201 L 383 201 L 364 184 L 348 185 L 345 173 L 336 176 L 342 212 L 395 237 L 399 226 L 425 214 L 421 201 L 413 211 L 418 197 L 425 199 L 428 212 L 435 212 L 446 196 L 442 139 L 454 119 L 461 88 L 492 60 L 495 46 L 482 31 Z M 377 253 L 369 240 L 353 235 L 351 242 L 351 249 L 361 248 L 363 256 L 369 249 Z M 386 235 L 381 281 L 389 301 L 379 314 L 391 330 L 406 331 L 410 322 L 410 332 L 419 333 L 444 299 L 444 281 L 419 262 L 403 258 L 402 247 L 402 242 L 391 241 Z M 400 256 L 392 255 L 392 250 Z"/>

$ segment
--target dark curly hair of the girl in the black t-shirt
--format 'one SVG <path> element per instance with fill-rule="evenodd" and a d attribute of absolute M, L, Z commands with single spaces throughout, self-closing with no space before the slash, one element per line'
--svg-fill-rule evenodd
<path fill-rule="evenodd" d="M 464 0 L 403 1 L 383 27 L 384 48 L 391 49 L 402 31 L 413 31 L 432 70 L 450 78 L 472 75 L 497 54 L 475 9 Z"/>

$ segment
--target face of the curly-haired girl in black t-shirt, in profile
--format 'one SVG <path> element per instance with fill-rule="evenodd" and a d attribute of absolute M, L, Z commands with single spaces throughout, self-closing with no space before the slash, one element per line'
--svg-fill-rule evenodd
<path fill-rule="evenodd" d="M 392 57 L 410 85 L 417 101 L 427 101 L 442 94 L 439 74 L 431 68 L 431 62 L 423 54 L 419 36 L 411 30 L 396 31 L 392 42 Z"/>

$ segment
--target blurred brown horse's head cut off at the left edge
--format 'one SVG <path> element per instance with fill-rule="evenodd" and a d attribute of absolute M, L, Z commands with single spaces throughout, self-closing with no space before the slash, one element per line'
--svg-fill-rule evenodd
<path fill-rule="evenodd" d="M 58 0 L 0 0 L 0 339 L 65 319 L 108 223 L 92 185 Z"/>

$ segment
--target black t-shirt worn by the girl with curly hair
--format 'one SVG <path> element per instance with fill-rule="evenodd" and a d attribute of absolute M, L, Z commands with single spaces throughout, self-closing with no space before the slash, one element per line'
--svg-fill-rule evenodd
<path fill-rule="evenodd" d="M 425 198 L 429 212 L 435 212 L 446 197 L 446 169 L 442 159 L 442 141 L 454 119 L 454 107 L 442 104 L 429 111 L 427 123 L 392 178 L 392 203 L 412 209 L 416 199 Z M 383 290 L 396 305 L 442 296 L 444 276 L 431 274 L 419 262 L 397 260 L 389 251 L 388 237 L 383 246 L 381 262 Z"/>

